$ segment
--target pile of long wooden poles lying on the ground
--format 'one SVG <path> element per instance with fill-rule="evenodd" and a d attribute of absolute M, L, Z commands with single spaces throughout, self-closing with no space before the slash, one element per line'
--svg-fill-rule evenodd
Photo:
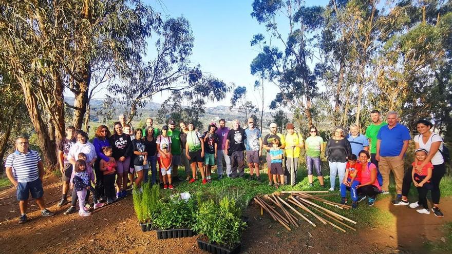
<path fill-rule="evenodd" d="M 280 192 L 281 194 L 289 194 L 286 199 L 283 199 L 279 195 L 275 195 L 273 193 L 263 197 L 255 197 L 254 201 L 260 206 L 261 215 L 263 215 L 263 211 L 268 212 L 273 220 L 279 222 L 289 231 L 291 230 L 291 226 L 299 227 L 302 222 L 297 218 L 297 216 L 314 227 L 316 226 L 314 222 L 319 221 L 325 225 L 329 224 L 343 232 L 346 232 L 347 228 L 356 231 L 355 228 L 346 224 L 356 224 L 355 221 L 322 206 L 328 205 L 337 209 L 350 209 L 351 207 L 348 205 L 342 205 L 322 198 L 336 194 L 317 194 L 315 196 L 311 194 L 327 192 L 328 191 L 282 191 Z M 322 205 L 319 205 L 313 201 L 316 201 Z M 296 208 L 300 208 L 305 214 Z M 295 216 L 292 212 L 297 216 Z M 307 216 L 312 216 L 315 219 L 313 220 L 314 222 Z"/>

